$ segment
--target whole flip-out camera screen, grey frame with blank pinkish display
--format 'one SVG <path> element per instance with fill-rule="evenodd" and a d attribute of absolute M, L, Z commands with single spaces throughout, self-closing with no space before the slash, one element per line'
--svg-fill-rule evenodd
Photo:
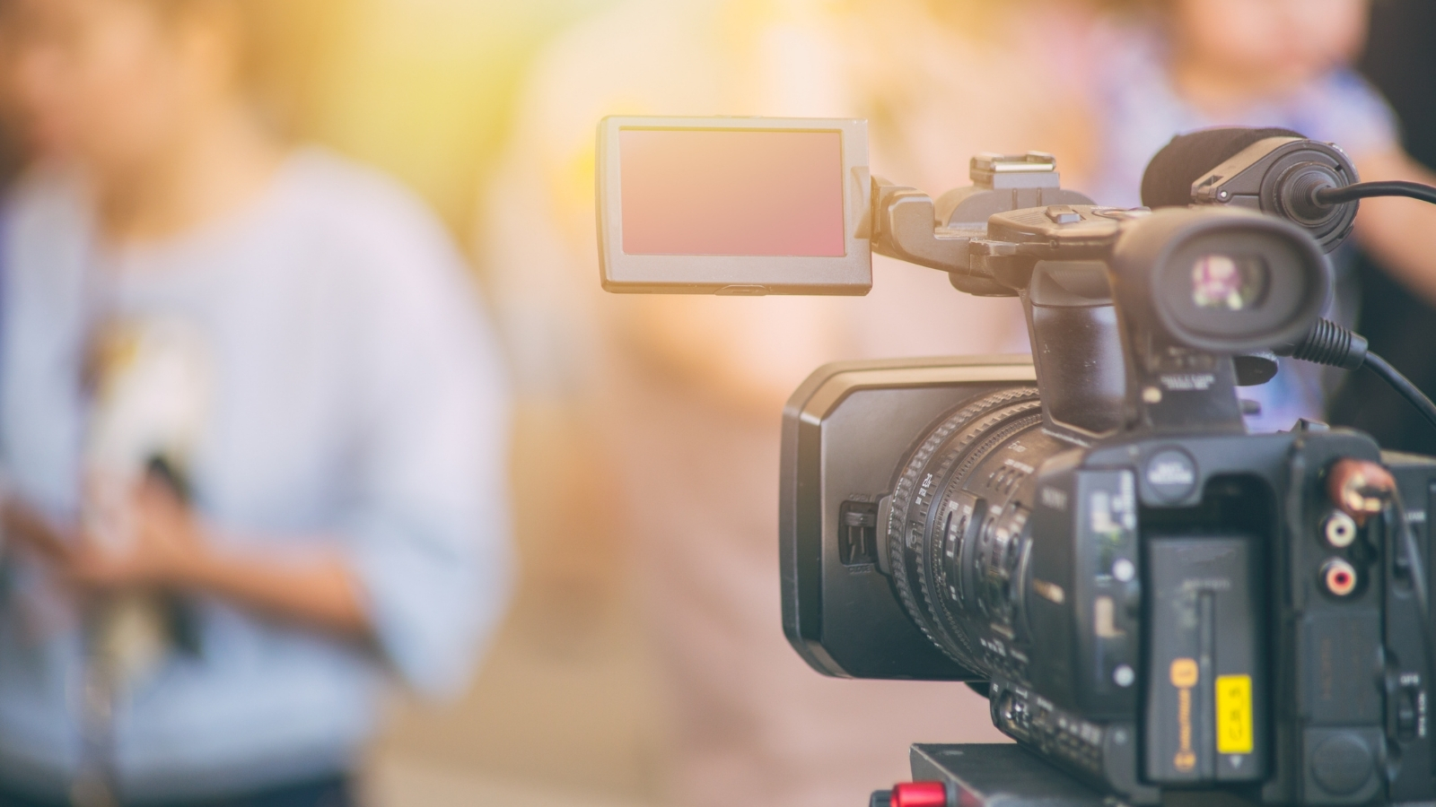
<path fill-rule="evenodd" d="M 863 121 L 605 118 L 597 191 L 609 291 L 872 289 Z"/>

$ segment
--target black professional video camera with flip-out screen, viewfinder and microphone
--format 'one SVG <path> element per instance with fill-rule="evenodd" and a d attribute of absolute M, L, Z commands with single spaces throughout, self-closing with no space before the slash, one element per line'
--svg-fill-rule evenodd
<path fill-rule="evenodd" d="M 1238 395 L 1285 355 L 1436 412 L 1321 319 L 1356 200 L 1425 191 L 1284 129 L 1176 138 L 1139 210 L 1061 188 L 1045 154 L 978 155 L 933 201 L 866 152 L 862 121 L 599 132 L 610 291 L 862 294 L 879 253 L 1022 303 L 1030 360 L 837 363 L 788 401 L 793 648 L 826 675 L 968 682 L 1129 804 L 1436 800 L 1436 460 L 1313 421 L 1248 434 Z M 886 798 L 972 803 L 955 788 Z"/>

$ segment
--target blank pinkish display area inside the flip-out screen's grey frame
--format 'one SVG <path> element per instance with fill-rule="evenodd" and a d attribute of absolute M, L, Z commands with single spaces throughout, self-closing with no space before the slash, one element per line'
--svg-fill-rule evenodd
<path fill-rule="evenodd" d="M 623 251 L 841 257 L 840 132 L 622 129 Z"/>

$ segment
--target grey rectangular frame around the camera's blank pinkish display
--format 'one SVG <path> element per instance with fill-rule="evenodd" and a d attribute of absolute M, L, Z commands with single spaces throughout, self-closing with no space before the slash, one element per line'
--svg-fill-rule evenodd
<path fill-rule="evenodd" d="M 666 256 L 623 251 L 623 165 L 619 132 L 836 132 L 841 142 L 843 256 Z M 869 241 L 867 122 L 843 118 L 609 116 L 597 144 L 599 267 L 603 289 L 686 294 L 866 294 L 873 286 Z"/>

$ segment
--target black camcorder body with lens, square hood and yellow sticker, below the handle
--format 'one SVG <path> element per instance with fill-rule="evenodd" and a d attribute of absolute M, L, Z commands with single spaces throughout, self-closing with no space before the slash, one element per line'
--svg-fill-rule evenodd
<path fill-rule="evenodd" d="M 1412 570 L 1374 521 L 1331 543 L 1324 471 L 1384 460 L 1425 546 L 1436 462 L 1315 424 L 1083 445 L 1044 425 L 1031 378 L 1017 358 L 830 365 L 794 395 L 798 653 L 829 675 L 988 681 L 998 728 L 1132 803 L 1203 785 L 1429 801 Z"/>

